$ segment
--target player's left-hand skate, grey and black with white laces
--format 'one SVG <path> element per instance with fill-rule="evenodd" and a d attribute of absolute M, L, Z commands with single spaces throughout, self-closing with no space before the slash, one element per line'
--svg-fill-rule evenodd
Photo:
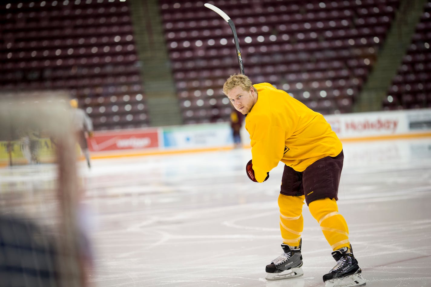
<path fill-rule="evenodd" d="M 297 278 L 304 274 L 301 268 L 301 242 L 296 247 L 281 244 L 281 248 L 284 253 L 266 265 L 266 280 Z"/>

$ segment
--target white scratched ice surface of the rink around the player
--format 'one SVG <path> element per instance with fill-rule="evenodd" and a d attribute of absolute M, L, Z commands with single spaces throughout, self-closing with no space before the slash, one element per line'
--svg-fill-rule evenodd
<path fill-rule="evenodd" d="M 344 143 L 339 212 L 367 286 L 431 286 L 431 138 Z M 323 287 L 335 265 L 304 205 L 303 277 L 266 281 L 282 253 L 283 165 L 262 184 L 249 149 L 80 162 L 95 287 Z M 4 171 L 3 171 L 4 172 Z"/>

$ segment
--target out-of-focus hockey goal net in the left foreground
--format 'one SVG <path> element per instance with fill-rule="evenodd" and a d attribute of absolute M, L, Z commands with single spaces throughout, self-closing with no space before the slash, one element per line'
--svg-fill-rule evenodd
<path fill-rule="evenodd" d="M 0 94 L 2 287 L 88 286 L 72 135 L 66 93 Z"/>

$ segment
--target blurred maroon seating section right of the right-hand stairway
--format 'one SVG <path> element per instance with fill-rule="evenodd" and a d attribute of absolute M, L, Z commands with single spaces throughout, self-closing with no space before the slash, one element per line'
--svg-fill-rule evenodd
<path fill-rule="evenodd" d="M 431 107 L 431 2 L 416 26 L 412 43 L 383 100 L 384 109 Z"/>

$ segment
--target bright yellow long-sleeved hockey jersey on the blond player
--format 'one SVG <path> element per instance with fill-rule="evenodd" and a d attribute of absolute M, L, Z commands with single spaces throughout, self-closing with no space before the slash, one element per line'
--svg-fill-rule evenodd
<path fill-rule="evenodd" d="M 323 115 L 269 83 L 253 87 L 258 98 L 246 116 L 245 128 L 257 181 L 263 182 L 280 161 L 303 172 L 316 160 L 341 152 L 341 141 Z"/>

